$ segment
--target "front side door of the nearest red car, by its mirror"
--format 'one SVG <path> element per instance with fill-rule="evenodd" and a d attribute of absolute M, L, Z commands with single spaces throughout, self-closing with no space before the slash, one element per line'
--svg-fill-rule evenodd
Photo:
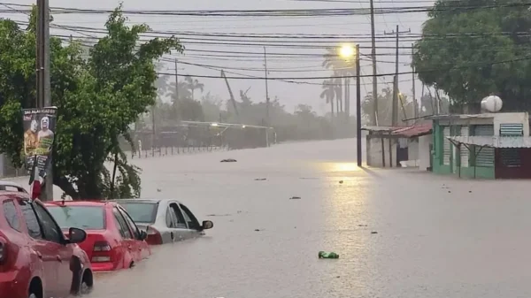
<path fill-rule="evenodd" d="M 48 245 L 55 252 L 56 262 L 58 263 L 58 278 L 56 279 L 58 294 L 55 297 L 67 297 L 70 295 L 73 280 L 73 272 L 70 271 L 73 245 L 66 244 L 63 231 L 41 203 L 33 202 L 32 205 L 41 224 L 44 240 L 49 242 Z"/>

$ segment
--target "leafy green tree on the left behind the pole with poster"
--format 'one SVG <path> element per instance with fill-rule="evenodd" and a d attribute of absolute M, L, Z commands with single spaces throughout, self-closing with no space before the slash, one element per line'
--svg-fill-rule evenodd
<path fill-rule="evenodd" d="M 51 99 L 58 106 L 53 181 L 74 199 L 140 194 L 139 169 L 127 164 L 119 138 L 129 139 L 129 125 L 155 103 L 154 61 L 171 49 L 181 51 L 181 45 L 175 38 L 140 42 L 149 27 L 127 27 L 126 21 L 119 6 L 105 24 L 108 35 L 96 42 L 87 59 L 76 42 L 63 46 L 58 38 L 50 41 Z M 25 32 L 1 20 L 0 43 L 0 150 L 19 165 L 20 108 L 35 106 L 35 29 L 30 25 Z M 105 162 L 113 164 L 112 171 Z"/>

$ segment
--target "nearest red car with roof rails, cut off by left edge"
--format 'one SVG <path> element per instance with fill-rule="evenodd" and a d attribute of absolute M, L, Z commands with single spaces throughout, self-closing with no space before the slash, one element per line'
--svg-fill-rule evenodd
<path fill-rule="evenodd" d="M 75 243 L 87 233 L 70 228 L 65 237 L 42 202 L 20 191 L 0 191 L 0 297 L 66 297 L 93 286 L 89 256 Z"/>

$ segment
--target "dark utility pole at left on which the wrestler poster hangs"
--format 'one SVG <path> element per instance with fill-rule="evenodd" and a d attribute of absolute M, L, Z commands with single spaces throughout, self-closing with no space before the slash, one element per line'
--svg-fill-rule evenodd
<path fill-rule="evenodd" d="M 37 0 L 37 108 L 50 107 L 50 4 L 48 0 Z M 53 200 L 53 175 L 51 155 L 46 169 L 42 201 Z"/>

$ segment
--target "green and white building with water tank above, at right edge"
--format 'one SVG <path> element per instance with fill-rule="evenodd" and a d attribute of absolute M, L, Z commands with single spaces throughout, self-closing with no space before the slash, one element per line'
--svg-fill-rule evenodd
<path fill-rule="evenodd" d="M 465 178 L 531 178 L 527 112 L 435 115 L 433 172 Z"/>

